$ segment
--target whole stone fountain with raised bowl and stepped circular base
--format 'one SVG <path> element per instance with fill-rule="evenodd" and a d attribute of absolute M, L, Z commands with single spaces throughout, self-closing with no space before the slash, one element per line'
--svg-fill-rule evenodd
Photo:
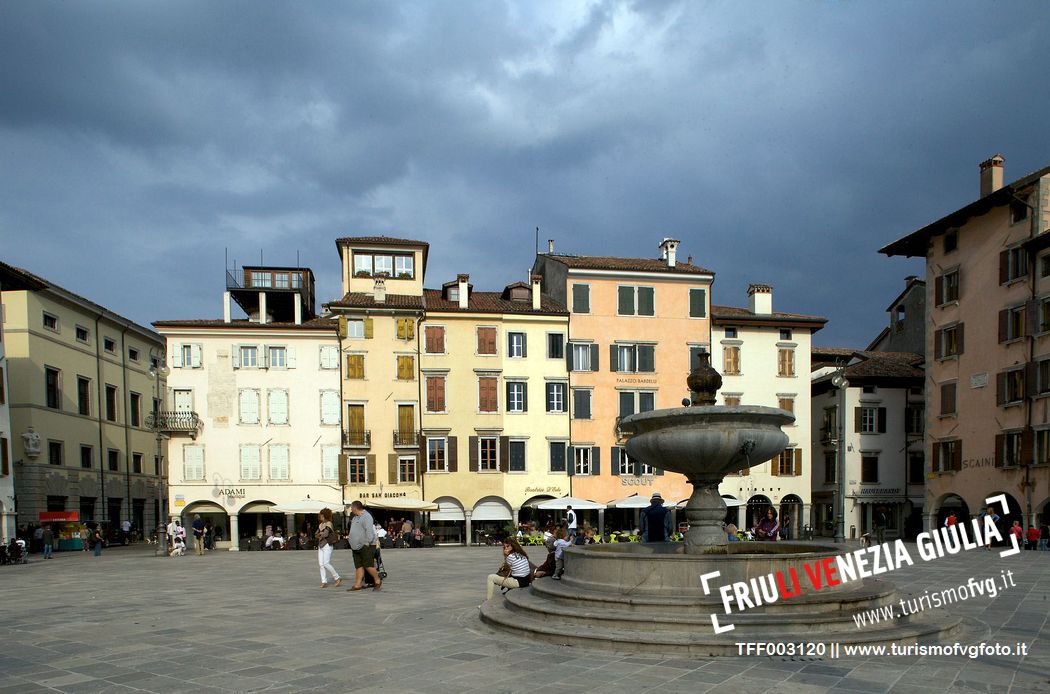
<path fill-rule="evenodd" d="M 686 476 L 693 493 L 682 543 L 617 543 L 565 550 L 565 575 L 540 579 L 481 607 L 483 622 L 501 630 L 556 644 L 628 653 L 734 655 L 746 640 L 915 643 L 952 637 L 962 621 L 941 610 L 857 629 L 853 616 L 897 602 L 886 581 L 864 579 L 791 600 L 756 606 L 732 616 L 733 630 L 714 625 L 724 611 L 717 590 L 700 576 L 717 572 L 719 585 L 763 576 L 804 576 L 826 558 L 855 549 L 789 542 L 730 543 L 722 529 L 726 503 L 718 485 L 729 472 L 770 460 L 788 444 L 781 426 L 791 413 L 775 407 L 718 406 L 721 377 L 704 353 L 688 378 L 692 406 L 626 417 L 621 430 L 635 460 Z M 714 617 L 714 619 L 712 618 Z"/>

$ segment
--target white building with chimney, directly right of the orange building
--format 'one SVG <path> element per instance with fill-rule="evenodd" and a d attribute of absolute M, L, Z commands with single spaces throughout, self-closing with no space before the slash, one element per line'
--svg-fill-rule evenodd
<path fill-rule="evenodd" d="M 795 415 L 795 423 L 784 427 L 789 442 L 780 455 L 753 461 L 727 477 L 719 489 L 723 497 L 747 502 L 730 508 L 738 527 L 754 526 L 765 507 L 774 506 L 779 518 L 788 516 L 791 537 L 798 538 L 813 522 L 810 350 L 813 334 L 827 319 L 774 312 L 768 285 L 752 285 L 748 297 L 747 309 L 711 307 L 711 361 L 722 376 L 719 404 L 781 407 Z"/>

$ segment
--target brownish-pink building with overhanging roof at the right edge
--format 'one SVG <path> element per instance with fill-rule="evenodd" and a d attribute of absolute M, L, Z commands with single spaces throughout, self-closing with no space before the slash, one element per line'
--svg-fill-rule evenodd
<path fill-rule="evenodd" d="M 926 260 L 926 525 L 1006 495 L 1005 522 L 1050 508 L 1050 167 L 881 249 Z"/>

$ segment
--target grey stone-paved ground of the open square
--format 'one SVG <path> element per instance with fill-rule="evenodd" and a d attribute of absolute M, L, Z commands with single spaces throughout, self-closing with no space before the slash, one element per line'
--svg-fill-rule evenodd
<path fill-rule="evenodd" d="M 1050 691 L 1050 552 L 972 550 L 881 576 L 923 593 L 1013 571 L 1015 587 L 952 609 L 982 640 L 1024 642 L 1028 655 L 975 659 L 685 659 L 530 643 L 478 618 L 498 548 L 383 555 L 379 593 L 319 589 L 307 551 L 167 559 L 139 546 L 2 567 L 0 694 Z M 334 563 L 350 573 L 350 552 Z"/>

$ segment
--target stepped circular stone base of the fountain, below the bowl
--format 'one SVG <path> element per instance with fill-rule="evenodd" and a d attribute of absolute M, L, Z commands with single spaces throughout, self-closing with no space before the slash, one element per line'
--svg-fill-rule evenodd
<path fill-rule="evenodd" d="M 499 629 L 561 645 L 623 653 L 737 655 L 740 642 L 914 644 L 958 640 L 962 619 L 941 610 L 858 628 L 854 615 L 891 606 L 897 589 L 867 579 L 815 590 L 805 570 L 841 550 L 791 543 L 730 543 L 701 554 L 680 544 L 610 544 L 565 550 L 562 581 L 539 579 L 481 608 Z M 724 613 L 719 588 L 779 571 L 800 594 Z M 705 594 L 700 575 L 717 571 Z M 711 617 L 732 631 L 715 633 Z"/>

